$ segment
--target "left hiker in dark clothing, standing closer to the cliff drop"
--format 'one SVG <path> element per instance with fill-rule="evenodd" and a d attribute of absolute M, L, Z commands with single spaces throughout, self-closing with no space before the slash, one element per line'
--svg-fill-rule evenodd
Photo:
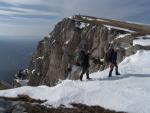
<path fill-rule="evenodd" d="M 89 57 L 90 57 L 90 51 L 88 51 L 87 53 L 83 50 L 80 51 L 80 57 L 81 57 L 81 60 L 80 60 L 80 66 L 82 68 L 82 72 L 80 74 L 80 81 L 82 81 L 82 78 L 83 78 L 83 74 L 86 73 L 86 78 L 89 80 L 90 77 L 89 77 L 89 67 L 90 67 L 90 64 L 89 64 Z"/>

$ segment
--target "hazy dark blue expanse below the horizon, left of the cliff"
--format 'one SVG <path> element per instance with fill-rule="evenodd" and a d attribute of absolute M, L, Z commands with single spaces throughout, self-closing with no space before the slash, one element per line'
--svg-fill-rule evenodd
<path fill-rule="evenodd" d="M 0 39 L 0 80 L 11 83 L 19 69 L 28 66 L 38 39 L 8 40 Z"/>

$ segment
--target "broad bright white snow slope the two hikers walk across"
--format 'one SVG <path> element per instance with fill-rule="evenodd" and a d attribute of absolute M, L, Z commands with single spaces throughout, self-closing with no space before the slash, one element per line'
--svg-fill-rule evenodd
<path fill-rule="evenodd" d="M 150 111 L 150 51 L 140 50 L 119 64 L 120 76 L 108 78 L 108 69 L 90 74 L 92 81 L 64 80 L 54 87 L 24 86 L 0 91 L 0 96 L 28 95 L 48 100 L 45 105 L 83 103 L 131 113 Z"/>

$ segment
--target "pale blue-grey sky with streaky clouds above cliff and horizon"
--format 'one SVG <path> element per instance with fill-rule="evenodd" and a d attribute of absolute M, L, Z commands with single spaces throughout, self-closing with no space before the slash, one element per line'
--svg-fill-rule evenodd
<path fill-rule="evenodd" d="M 150 23 L 150 0 L 0 0 L 1 36 L 44 36 L 64 17 L 84 14 Z"/>

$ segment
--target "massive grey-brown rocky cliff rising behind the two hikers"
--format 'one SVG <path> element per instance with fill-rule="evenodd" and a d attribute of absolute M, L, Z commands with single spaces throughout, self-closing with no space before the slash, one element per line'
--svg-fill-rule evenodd
<path fill-rule="evenodd" d="M 39 42 L 28 68 L 29 85 L 54 85 L 59 79 L 66 79 L 68 65 L 75 64 L 76 53 L 81 49 L 92 48 L 92 57 L 103 59 L 109 43 L 113 43 L 119 48 L 118 62 L 138 49 L 149 49 L 133 45 L 137 36 L 148 34 L 149 31 L 139 32 L 141 27 L 135 24 L 118 28 L 123 24 L 81 15 L 63 19 Z M 90 65 L 90 72 L 98 70 L 92 61 Z M 79 75 L 79 72 L 75 74 L 73 76 Z"/>

